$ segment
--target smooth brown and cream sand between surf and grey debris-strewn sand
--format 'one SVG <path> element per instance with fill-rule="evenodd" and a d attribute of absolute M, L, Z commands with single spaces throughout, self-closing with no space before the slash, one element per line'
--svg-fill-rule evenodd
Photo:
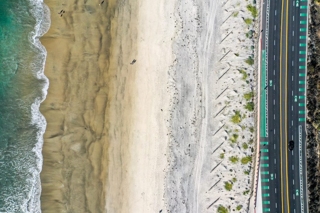
<path fill-rule="evenodd" d="M 164 8 L 112 0 L 45 3 L 52 23 L 41 38 L 50 82 L 40 107 L 47 120 L 42 211 L 158 209 L 173 61 Z M 173 20 L 171 26 L 174 32 Z"/>

